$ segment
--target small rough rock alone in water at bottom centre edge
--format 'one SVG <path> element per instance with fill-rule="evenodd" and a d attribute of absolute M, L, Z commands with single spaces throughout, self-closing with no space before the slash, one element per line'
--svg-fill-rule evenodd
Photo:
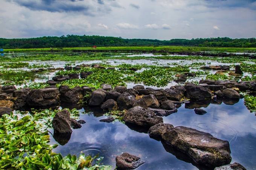
<path fill-rule="evenodd" d="M 120 156 L 116 156 L 116 167 L 118 169 L 134 170 L 144 163 L 145 161 L 142 161 L 138 156 L 129 153 L 123 153 Z"/>

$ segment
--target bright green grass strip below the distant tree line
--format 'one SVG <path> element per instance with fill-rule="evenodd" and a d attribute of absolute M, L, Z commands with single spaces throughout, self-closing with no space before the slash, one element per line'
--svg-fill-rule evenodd
<path fill-rule="evenodd" d="M 256 52 L 256 48 L 221 48 L 221 47 L 189 47 L 189 46 L 143 46 L 143 47 L 76 47 L 76 48 L 28 48 L 28 49 L 4 49 L 5 52 L 25 52 L 25 51 L 160 51 L 160 52 Z"/>

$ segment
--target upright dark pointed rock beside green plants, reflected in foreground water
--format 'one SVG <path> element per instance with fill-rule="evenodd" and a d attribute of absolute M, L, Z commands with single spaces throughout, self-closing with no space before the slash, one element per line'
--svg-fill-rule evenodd
<path fill-rule="evenodd" d="M 52 119 L 52 127 L 57 133 L 72 133 L 70 126 L 70 112 L 63 110 L 56 113 Z"/>

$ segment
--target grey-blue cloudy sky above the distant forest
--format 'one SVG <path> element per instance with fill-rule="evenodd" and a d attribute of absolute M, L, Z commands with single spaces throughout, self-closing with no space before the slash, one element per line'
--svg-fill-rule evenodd
<path fill-rule="evenodd" d="M 256 37 L 256 0 L 0 0 L 0 37 Z"/>

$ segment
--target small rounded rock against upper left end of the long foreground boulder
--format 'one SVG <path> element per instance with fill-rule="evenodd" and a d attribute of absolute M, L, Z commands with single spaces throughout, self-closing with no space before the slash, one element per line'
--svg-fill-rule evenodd
<path fill-rule="evenodd" d="M 173 125 L 166 123 L 158 123 L 157 125 L 151 126 L 148 130 L 149 136 L 161 137 L 168 129 L 173 129 Z"/>

